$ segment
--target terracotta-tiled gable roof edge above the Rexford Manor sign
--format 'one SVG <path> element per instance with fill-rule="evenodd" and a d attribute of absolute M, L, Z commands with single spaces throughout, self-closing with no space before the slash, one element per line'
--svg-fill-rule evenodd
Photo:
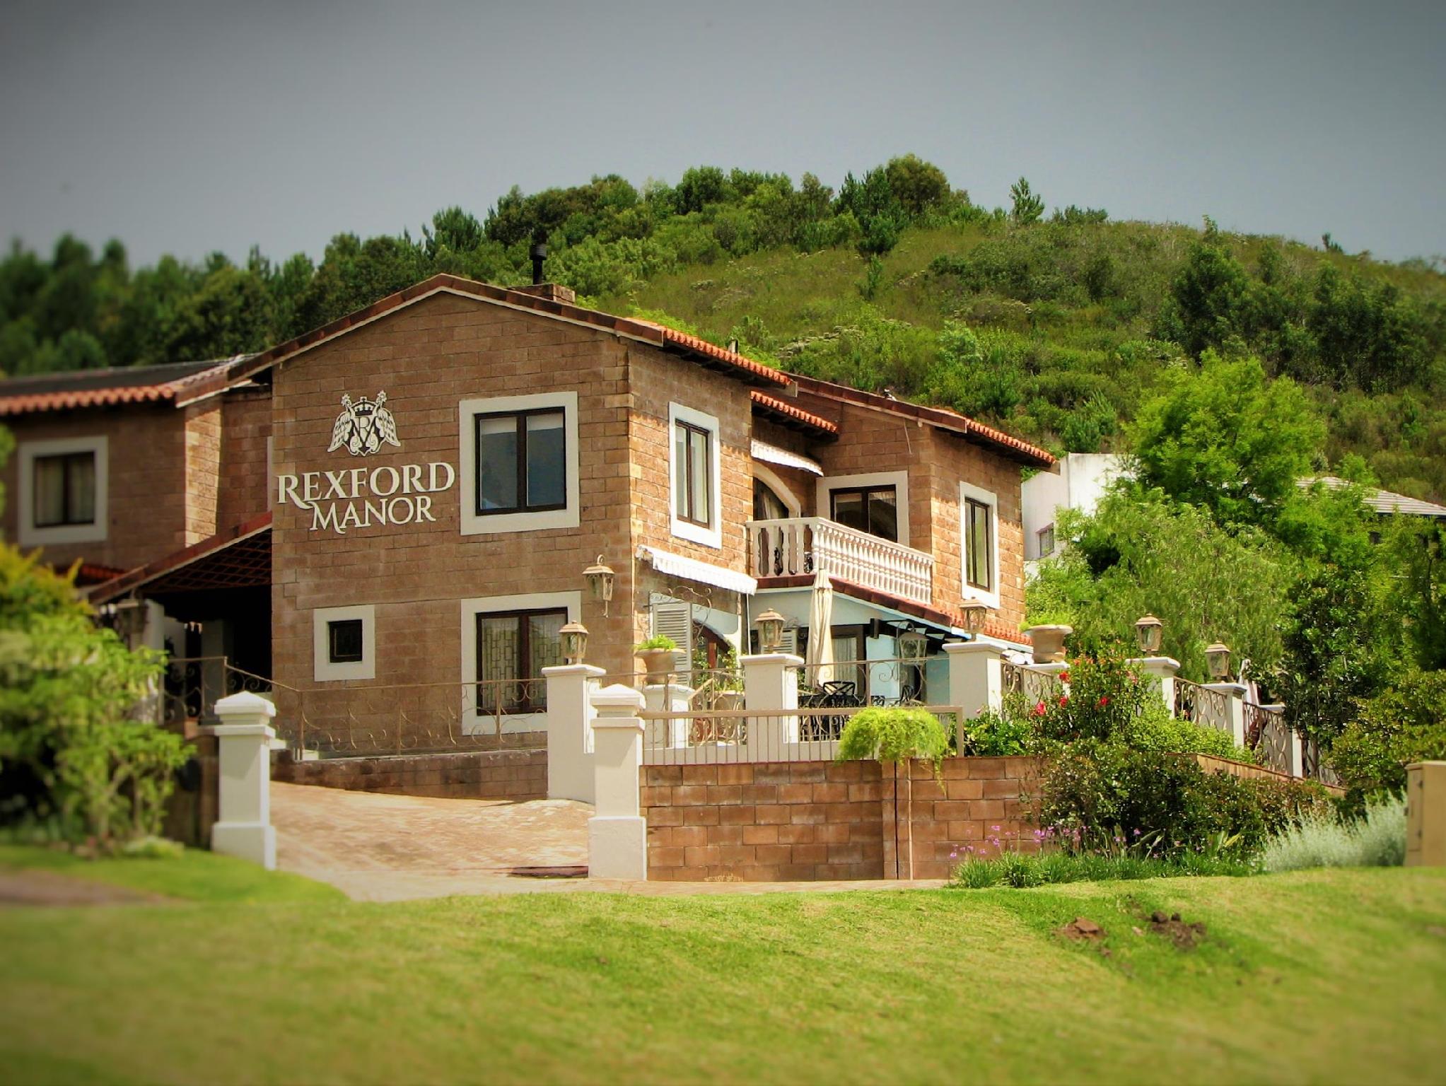
<path fill-rule="evenodd" d="M 330 324 L 324 324 L 320 328 L 314 328 L 312 331 L 298 335 L 295 340 L 288 340 L 286 343 L 276 344 L 260 354 L 237 362 L 231 366 L 231 379 L 234 380 L 237 377 L 249 377 L 253 373 L 260 373 L 262 370 L 286 362 L 288 359 L 292 359 L 320 343 L 325 343 L 327 340 L 341 335 L 351 328 L 369 324 L 379 317 L 385 317 L 389 312 L 395 312 L 441 292 L 464 298 L 476 298 L 496 305 L 506 305 L 513 309 L 529 309 L 542 317 L 551 317 L 571 324 L 584 324 L 629 340 L 648 343 L 672 354 L 680 354 L 690 362 L 696 362 L 709 369 L 727 373 L 729 376 L 749 385 L 769 388 L 788 388 L 791 385 L 788 377 L 779 370 L 775 370 L 772 366 L 765 366 L 763 363 L 753 362 L 742 354 L 735 354 L 733 351 L 716 347 L 706 340 L 700 340 L 697 335 L 688 335 L 687 333 L 675 331 L 674 328 L 665 328 L 664 325 L 654 324 L 652 321 L 642 321 L 630 317 L 613 317 L 612 314 L 600 312 L 597 309 L 584 309 L 580 305 L 571 305 L 551 298 L 539 298 L 538 295 L 528 294 L 525 291 L 509 291 L 505 286 L 479 283 L 474 279 L 463 279 L 455 275 L 434 275 L 429 279 L 424 279 L 419 283 L 408 286 L 405 291 L 389 294 L 386 298 L 380 298 L 356 312 L 348 312 L 346 317 L 338 317 Z"/>

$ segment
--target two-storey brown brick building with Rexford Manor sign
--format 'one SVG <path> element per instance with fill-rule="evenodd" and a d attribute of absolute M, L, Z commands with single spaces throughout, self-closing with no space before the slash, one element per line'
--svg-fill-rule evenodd
<path fill-rule="evenodd" d="M 536 730 L 567 622 L 613 674 L 654 632 L 746 652 L 769 607 L 817 652 L 820 573 L 839 667 L 905 629 L 937 652 L 967 600 L 1018 641 L 1021 467 L 1053 464 L 562 288 L 453 276 L 256 356 L 13 379 L 0 422 L 6 538 L 82 563 L 103 610 L 145 600 L 143 641 L 275 680 L 282 716 L 325 694 L 337 727 L 435 685 L 467 730 Z"/>

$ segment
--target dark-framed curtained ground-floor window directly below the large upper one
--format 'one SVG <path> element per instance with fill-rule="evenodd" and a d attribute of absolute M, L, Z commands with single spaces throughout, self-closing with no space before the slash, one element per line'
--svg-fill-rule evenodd
<path fill-rule="evenodd" d="M 565 607 L 477 615 L 477 711 L 547 709 L 542 668 L 562 662 Z"/>

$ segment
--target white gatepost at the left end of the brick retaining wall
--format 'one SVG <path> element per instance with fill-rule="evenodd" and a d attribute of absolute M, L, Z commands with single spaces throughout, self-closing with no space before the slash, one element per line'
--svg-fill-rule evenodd
<path fill-rule="evenodd" d="M 593 693 L 593 795 L 587 876 L 648 878 L 648 823 L 639 805 L 642 694 L 615 684 Z"/>

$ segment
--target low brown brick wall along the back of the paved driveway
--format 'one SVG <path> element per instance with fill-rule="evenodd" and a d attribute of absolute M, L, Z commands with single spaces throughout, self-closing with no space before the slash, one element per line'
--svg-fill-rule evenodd
<path fill-rule="evenodd" d="M 393 758 L 273 758 L 272 779 L 444 800 L 544 800 L 547 751 L 470 751 Z"/>

